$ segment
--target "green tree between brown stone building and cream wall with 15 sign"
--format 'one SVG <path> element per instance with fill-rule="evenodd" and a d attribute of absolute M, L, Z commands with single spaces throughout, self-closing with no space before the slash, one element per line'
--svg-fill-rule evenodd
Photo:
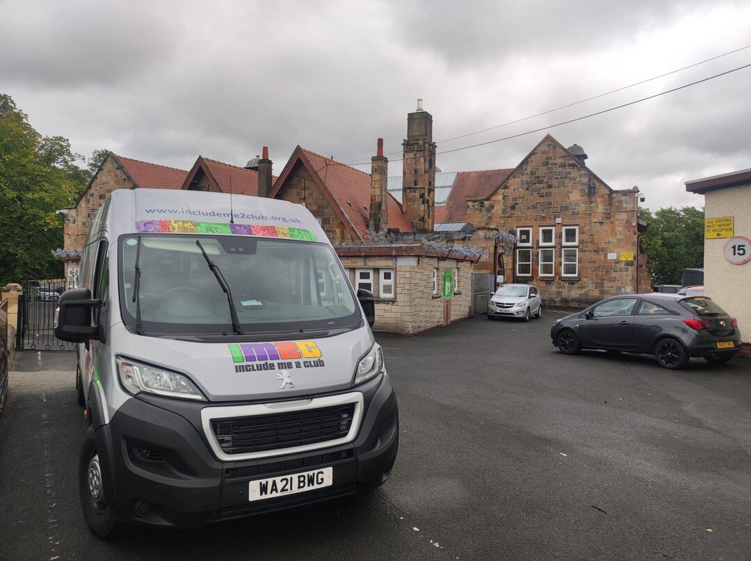
<path fill-rule="evenodd" d="M 653 284 L 680 285 L 682 269 L 704 267 L 704 209 L 668 207 L 639 213 L 650 223 L 641 245 L 652 264 Z"/>

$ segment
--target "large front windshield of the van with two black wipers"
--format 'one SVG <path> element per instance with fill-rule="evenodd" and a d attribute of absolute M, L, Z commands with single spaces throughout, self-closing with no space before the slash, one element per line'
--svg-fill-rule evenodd
<path fill-rule="evenodd" d="M 141 273 L 136 283 L 139 238 Z M 121 237 L 120 306 L 125 323 L 136 323 L 137 288 L 146 333 L 233 333 L 227 294 L 201 248 L 231 289 L 243 333 L 360 323 L 360 309 L 330 246 L 205 234 Z"/>

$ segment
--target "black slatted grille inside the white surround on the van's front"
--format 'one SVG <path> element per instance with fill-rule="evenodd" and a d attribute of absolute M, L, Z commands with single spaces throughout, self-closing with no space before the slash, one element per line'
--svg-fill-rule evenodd
<path fill-rule="evenodd" d="M 213 419 L 211 428 L 225 454 L 250 454 L 342 439 L 349 433 L 354 403 L 291 413 Z"/>

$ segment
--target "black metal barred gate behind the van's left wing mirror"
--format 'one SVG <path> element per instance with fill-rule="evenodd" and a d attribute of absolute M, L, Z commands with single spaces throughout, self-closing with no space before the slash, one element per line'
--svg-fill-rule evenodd
<path fill-rule="evenodd" d="M 75 343 L 55 336 L 55 312 L 60 294 L 77 279 L 26 281 L 18 306 L 17 348 L 24 351 L 74 351 Z"/>

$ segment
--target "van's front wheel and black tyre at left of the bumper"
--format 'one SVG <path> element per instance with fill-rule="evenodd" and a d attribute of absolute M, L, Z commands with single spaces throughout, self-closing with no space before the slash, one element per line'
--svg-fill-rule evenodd
<path fill-rule="evenodd" d="M 115 519 L 104 496 L 93 427 L 86 430 L 86 437 L 81 446 L 78 460 L 78 493 L 83 517 L 94 535 L 98 538 L 109 539 L 122 534 L 125 525 Z"/>

